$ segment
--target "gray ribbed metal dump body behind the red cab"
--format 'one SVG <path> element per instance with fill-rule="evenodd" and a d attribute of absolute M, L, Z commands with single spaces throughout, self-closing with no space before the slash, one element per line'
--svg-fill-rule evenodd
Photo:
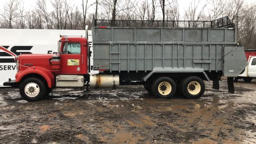
<path fill-rule="evenodd" d="M 94 69 L 110 72 L 204 70 L 237 76 L 246 66 L 236 26 L 92 28 Z"/>

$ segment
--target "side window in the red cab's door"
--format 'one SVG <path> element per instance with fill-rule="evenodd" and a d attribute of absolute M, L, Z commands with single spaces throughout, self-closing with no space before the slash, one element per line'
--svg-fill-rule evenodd
<path fill-rule="evenodd" d="M 81 46 L 79 42 L 66 42 L 64 43 L 62 54 L 80 54 Z"/>

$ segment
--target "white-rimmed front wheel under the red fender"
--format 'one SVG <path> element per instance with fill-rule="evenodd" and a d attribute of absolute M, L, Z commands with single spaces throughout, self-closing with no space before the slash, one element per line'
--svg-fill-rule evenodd
<path fill-rule="evenodd" d="M 46 94 L 46 86 L 39 78 L 27 78 L 20 84 L 20 95 L 29 102 L 41 100 Z"/>

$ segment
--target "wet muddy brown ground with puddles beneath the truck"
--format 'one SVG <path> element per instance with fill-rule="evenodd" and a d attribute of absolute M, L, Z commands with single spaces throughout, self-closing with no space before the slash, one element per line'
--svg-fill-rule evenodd
<path fill-rule="evenodd" d="M 0 143 L 255 143 L 256 81 L 236 93 L 212 90 L 198 100 L 154 98 L 143 86 L 118 90 L 56 89 L 26 102 L 18 89 L 0 89 Z"/>

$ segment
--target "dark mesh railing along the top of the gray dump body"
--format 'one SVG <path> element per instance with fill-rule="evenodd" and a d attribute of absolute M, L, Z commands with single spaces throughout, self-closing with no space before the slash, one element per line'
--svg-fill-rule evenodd
<path fill-rule="evenodd" d="M 228 16 L 212 21 L 188 20 L 93 20 L 93 26 L 134 27 L 134 28 L 223 28 L 234 24 Z"/>

